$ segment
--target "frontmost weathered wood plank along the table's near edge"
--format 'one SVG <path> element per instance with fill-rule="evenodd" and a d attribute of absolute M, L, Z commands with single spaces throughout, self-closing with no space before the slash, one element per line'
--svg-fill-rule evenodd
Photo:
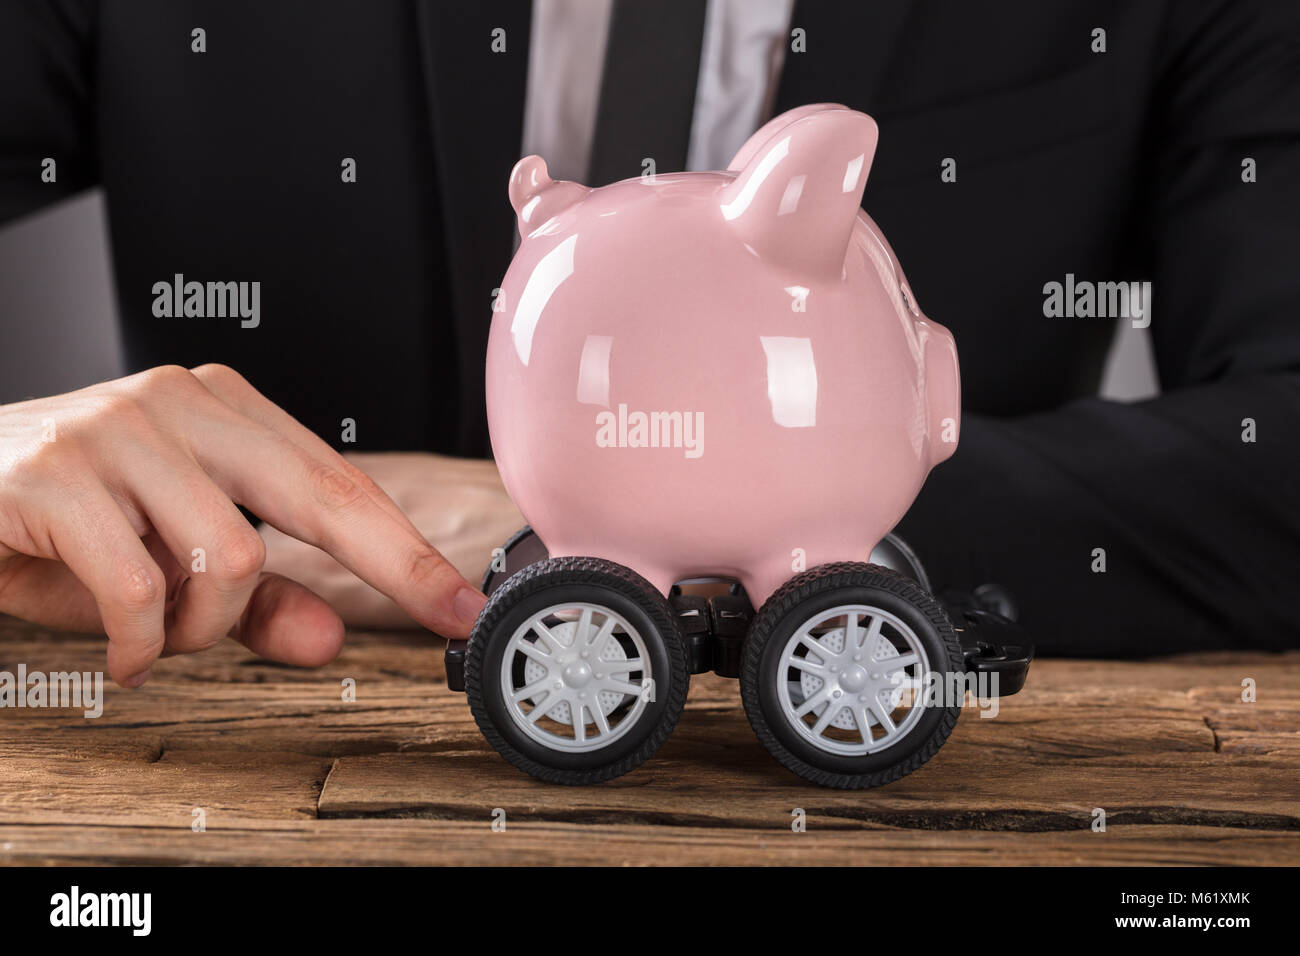
<path fill-rule="evenodd" d="M 1291 832 L 1112 826 L 1104 834 L 295 821 L 278 829 L 0 825 L 0 865 L 1296 865 Z"/>

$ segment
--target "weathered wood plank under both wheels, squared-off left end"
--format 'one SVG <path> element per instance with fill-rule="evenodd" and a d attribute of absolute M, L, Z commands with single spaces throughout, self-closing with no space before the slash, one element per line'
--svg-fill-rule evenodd
<path fill-rule="evenodd" d="M 805 786 L 754 748 L 702 763 L 680 749 L 592 788 L 556 788 L 482 754 L 343 757 L 321 817 L 484 818 L 764 829 L 803 808 L 819 826 L 1069 830 L 1102 808 L 1112 822 L 1300 830 L 1300 760 L 1217 753 L 991 761 L 946 747 L 915 774 L 866 792 Z"/>

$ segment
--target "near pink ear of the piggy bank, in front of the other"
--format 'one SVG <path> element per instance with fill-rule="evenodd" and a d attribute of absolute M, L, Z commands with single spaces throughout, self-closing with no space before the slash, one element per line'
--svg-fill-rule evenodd
<path fill-rule="evenodd" d="M 876 122 L 842 107 L 805 107 L 723 187 L 723 219 L 755 252 L 792 269 L 838 274 L 876 152 Z"/>

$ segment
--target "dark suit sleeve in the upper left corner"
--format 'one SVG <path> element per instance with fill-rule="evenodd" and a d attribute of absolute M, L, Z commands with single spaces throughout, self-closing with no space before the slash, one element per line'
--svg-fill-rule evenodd
<path fill-rule="evenodd" d="M 0 222 L 96 182 L 92 22 L 88 0 L 0 0 Z"/>

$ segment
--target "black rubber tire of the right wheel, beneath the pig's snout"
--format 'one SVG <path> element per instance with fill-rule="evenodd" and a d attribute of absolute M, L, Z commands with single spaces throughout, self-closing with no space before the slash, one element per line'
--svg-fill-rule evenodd
<path fill-rule="evenodd" d="M 915 581 L 878 564 L 822 564 L 792 578 L 759 609 L 745 639 L 740 692 L 759 741 L 788 770 L 824 787 L 862 790 L 893 783 L 935 756 L 961 706 L 930 706 L 897 744 L 861 757 L 819 750 L 789 726 L 776 697 L 781 653 L 818 611 L 842 604 L 887 610 L 916 633 L 936 674 L 966 670 L 962 645 L 942 606 Z"/>

